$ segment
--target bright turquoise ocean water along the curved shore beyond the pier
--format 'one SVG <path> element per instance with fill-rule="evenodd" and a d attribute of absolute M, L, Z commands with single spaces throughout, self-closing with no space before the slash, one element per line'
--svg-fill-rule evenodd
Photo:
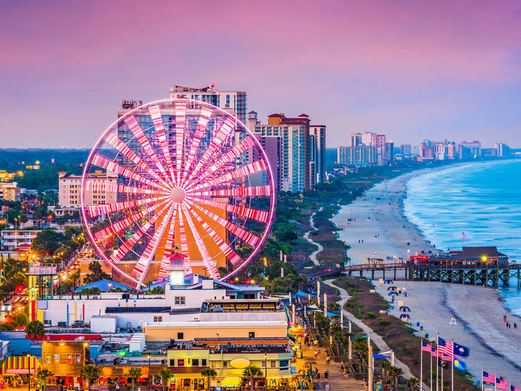
<path fill-rule="evenodd" d="M 521 160 L 462 164 L 413 177 L 404 214 L 440 250 L 497 246 L 521 262 Z M 521 315 L 521 289 L 499 292 L 506 307 Z"/>

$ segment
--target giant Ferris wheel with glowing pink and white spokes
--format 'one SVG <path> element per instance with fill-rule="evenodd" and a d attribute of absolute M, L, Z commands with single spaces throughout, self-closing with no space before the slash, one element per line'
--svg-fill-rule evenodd
<path fill-rule="evenodd" d="M 139 289 L 185 274 L 226 280 L 272 225 L 272 170 L 254 134 L 228 111 L 164 99 L 120 111 L 81 177 L 81 214 L 99 256 Z"/>

